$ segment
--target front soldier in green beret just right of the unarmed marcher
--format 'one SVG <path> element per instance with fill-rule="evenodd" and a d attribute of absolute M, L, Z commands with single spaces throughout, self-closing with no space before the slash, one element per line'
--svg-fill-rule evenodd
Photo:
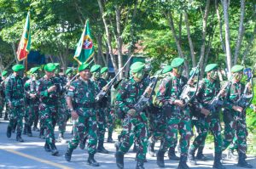
<path fill-rule="evenodd" d="M 121 82 L 116 96 L 116 104 L 119 109 L 117 111 L 123 113 L 123 115 L 119 115 L 123 119 L 123 133 L 115 155 L 119 168 L 124 168 L 124 155 L 131 148 L 134 138 L 137 139 L 138 144 L 137 168 L 144 168 L 143 162 L 146 158 L 148 144 L 148 118 L 145 112 L 137 112 L 133 108 L 148 86 L 148 82 L 143 81 L 144 67 L 142 62 L 131 65 L 131 77 Z M 146 91 L 150 92 L 150 88 L 147 88 Z"/>

